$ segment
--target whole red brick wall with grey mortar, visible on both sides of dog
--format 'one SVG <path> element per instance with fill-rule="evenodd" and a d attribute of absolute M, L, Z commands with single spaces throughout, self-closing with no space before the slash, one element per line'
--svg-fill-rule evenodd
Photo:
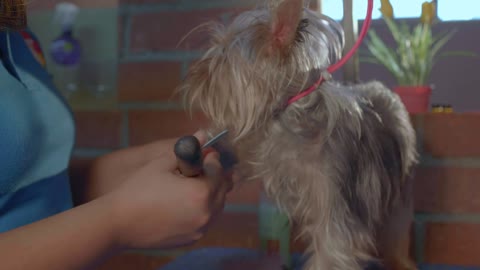
<path fill-rule="evenodd" d="M 207 20 L 227 21 L 249 8 L 248 1 L 123 0 L 119 3 L 118 109 L 76 111 L 74 180 L 81 181 L 90 158 L 109 151 L 195 131 L 205 119 L 189 119 L 173 90 L 202 51 L 205 38 L 193 34 Z M 480 115 L 422 115 L 412 118 L 421 142 L 417 172 L 413 253 L 427 266 L 480 267 Z M 479 187 L 479 188 L 477 188 Z M 259 185 L 247 184 L 228 199 L 225 214 L 202 246 L 256 248 Z M 301 243 L 292 250 L 302 251 Z M 155 269 L 185 250 L 127 254 L 102 269 Z"/>

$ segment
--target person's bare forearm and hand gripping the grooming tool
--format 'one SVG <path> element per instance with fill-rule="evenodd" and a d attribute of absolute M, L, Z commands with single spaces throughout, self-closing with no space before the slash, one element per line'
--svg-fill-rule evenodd
<path fill-rule="evenodd" d="M 107 195 L 0 234 L 1 268 L 87 269 L 123 249 L 170 248 L 200 239 L 223 209 L 230 183 L 216 153 L 205 157 L 205 176 L 178 175 L 167 150 L 172 147 L 172 141 L 160 143 L 164 155 L 130 172 Z"/>

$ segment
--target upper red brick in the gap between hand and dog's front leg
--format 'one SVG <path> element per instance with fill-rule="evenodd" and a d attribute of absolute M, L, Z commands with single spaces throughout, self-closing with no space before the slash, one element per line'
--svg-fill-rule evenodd
<path fill-rule="evenodd" d="M 258 204 L 262 183 L 260 181 L 242 182 L 228 194 L 227 203 Z"/>

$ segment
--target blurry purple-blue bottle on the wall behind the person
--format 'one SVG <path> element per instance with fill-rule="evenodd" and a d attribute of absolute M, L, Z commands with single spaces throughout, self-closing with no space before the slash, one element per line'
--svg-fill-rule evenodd
<path fill-rule="evenodd" d="M 59 65 L 75 66 L 80 62 L 82 49 L 72 30 L 77 14 L 78 7 L 72 3 L 60 3 L 56 7 L 55 21 L 60 23 L 63 30 L 50 44 L 50 55 Z"/>

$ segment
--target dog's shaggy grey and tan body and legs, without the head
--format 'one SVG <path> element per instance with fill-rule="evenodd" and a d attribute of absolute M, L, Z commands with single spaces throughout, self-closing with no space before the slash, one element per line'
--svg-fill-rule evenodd
<path fill-rule="evenodd" d="M 313 242 L 307 269 L 358 269 L 376 258 L 411 268 L 403 258 L 416 140 L 389 89 L 322 85 L 266 127 L 256 156 L 267 192 Z"/>

